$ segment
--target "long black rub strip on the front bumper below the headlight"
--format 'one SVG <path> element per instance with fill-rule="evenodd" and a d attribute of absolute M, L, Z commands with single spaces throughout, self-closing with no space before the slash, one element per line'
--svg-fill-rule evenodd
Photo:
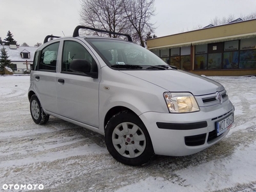
<path fill-rule="evenodd" d="M 159 129 L 191 130 L 191 129 L 200 129 L 200 128 L 207 127 L 207 122 L 196 122 L 196 123 L 190 123 L 190 124 L 172 124 L 172 123 L 156 122 L 156 125 Z"/>

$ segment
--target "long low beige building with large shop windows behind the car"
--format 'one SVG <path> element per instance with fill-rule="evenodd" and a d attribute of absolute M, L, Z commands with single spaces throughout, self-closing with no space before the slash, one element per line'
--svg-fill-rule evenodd
<path fill-rule="evenodd" d="M 206 76 L 256 75 L 256 19 L 147 40 L 169 65 Z"/>

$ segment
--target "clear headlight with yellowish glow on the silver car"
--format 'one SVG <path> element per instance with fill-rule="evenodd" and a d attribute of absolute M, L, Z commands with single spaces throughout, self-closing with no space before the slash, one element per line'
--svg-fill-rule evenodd
<path fill-rule="evenodd" d="M 170 113 L 189 113 L 200 111 L 195 97 L 191 93 L 164 93 L 164 99 Z"/>

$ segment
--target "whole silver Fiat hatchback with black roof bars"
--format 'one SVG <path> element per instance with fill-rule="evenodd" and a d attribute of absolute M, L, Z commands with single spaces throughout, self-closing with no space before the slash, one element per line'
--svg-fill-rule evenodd
<path fill-rule="evenodd" d="M 81 28 L 47 36 L 35 52 L 28 98 L 36 124 L 52 115 L 99 132 L 128 165 L 195 154 L 228 134 L 234 106 L 220 83 L 166 65 L 129 35 L 82 37 Z"/>

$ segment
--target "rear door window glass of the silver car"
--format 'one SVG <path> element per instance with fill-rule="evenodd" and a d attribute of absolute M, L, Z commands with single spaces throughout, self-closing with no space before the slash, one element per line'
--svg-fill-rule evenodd
<path fill-rule="evenodd" d="M 39 70 L 50 70 L 56 72 L 59 44 L 60 42 L 48 45 L 42 50 Z"/>

